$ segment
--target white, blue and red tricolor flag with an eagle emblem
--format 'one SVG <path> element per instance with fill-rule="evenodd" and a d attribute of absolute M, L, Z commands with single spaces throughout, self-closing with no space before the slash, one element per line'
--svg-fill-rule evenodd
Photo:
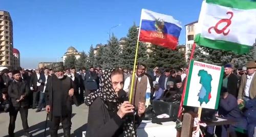
<path fill-rule="evenodd" d="M 181 28 L 172 16 L 142 9 L 139 40 L 176 49 Z"/>

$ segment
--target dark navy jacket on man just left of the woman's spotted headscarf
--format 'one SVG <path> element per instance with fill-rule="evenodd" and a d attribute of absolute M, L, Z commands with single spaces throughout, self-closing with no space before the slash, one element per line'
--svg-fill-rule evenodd
<path fill-rule="evenodd" d="M 84 87 L 87 90 L 97 90 L 99 83 L 98 80 L 99 78 L 96 73 L 88 71 L 84 78 Z"/>

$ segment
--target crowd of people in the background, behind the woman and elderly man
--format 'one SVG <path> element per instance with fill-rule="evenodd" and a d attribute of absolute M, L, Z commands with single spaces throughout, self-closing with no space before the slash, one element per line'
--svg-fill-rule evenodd
<path fill-rule="evenodd" d="M 232 64 L 226 64 L 225 76 L 223 77 L 222 93 L 219 103 L 219 116 L 226 118 L 240 119 L 241 124 L 233 128 L 241 127 L 248 130 L 249 136 L 253 135 L 256 126 L 256 78 L 254 61 L 248 62 L 247 66 L 234 68 Z M 123 72 L 123 91 L 126 96 L 132 89 L 133 70 L 129 68 L 118 68 Z M 14 72 L 14 73 L 13 73 Z M 26 97 L 28 108 L 36 109 L 36 112 L 42 111 L 46 106 L 46 85 L 49 76 L 56 75 L 54 69 L 38 68 L 35 70 L 18 71 L 4 69 L 0 76 L 0 109 L 2 112 L 11 112 L 13 103 L 9 99 L 10 85 L 15 81 L 14 74 L 20 73 L 20 78 L 29 86 L 29 92 Z M 100 87 L 100 78 L 104 70 L 100 67 L 66 68 L 64 75 L 70 77 L 75 85 L 73 103 L 80 105 L 87 96 L 94 93 Z M 135 108 L 139 107 L 139 102 L 144 102 L 146 106 L 154 100 L 173 102 L 179 104 L 183 93 L 185 79 L 188 68 L 170 69 L 156 67 L 152 71 L 147 70 L 146 66 L 139 64 L 136 66 L 135 80 L 132 95 L 132 104 Z M 8 90 L 9 89 L 9 90 Z M 24 100 L 23 95 L 17 100 Z M 22 106 L 23 107 L 23 106 Z M 16 115 L 16 114 L 15 114 Z M 28 115 L 28 114 L 27 114 Z M 15 116 L 16 119 L 16 116 Z M 15 121 L 14 121 L 15 122 Z M 25 128 L 25 127 L 24 127 Z M 9 127 L 10 130 L 10 127 Z M 221 133 L 225 134 L 226 128 L 222 127 Z M 232 133 L 234 131 L 231 130 Z M 211 134 L 211 130 L 208 130 Z"/>

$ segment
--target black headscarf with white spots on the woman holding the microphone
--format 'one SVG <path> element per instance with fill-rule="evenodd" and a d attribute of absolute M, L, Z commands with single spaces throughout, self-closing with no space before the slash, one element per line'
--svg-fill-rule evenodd
<path fill-rule="evenodd" d="M 118 97 L 115 93 L 115 90 L 112 86 L 111 74 L 115 69 L 106 69 L 102 76 L 99 79 L 99 89 L 95 92 L 92 92 L 88 96 L 84 98 L 84 103 L 87 106 L 90 106 L 93 101 L 100 97 L 103 102 L 116 102 L 119 106 L 121 102 L 118 100 Z M 107 105 L 107 104 L 105 104 Z M 125 122 L 123 124 L 123 134 L 124 136 L 136 136 L 136 132 L 134 129 L 134 121 L 131 115 L 124 117 Z"/>

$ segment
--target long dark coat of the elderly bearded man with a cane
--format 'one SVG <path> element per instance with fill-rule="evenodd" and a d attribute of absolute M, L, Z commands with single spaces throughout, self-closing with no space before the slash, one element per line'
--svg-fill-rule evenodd
<path fill-rule="evenodd" d="M 75 87 L 75 85 L 72 79 L 68 76 L 64 76 L 62 79 L 58 79 L 56 76 L 51 76 L 47 79 L 45 94 L 46 104 L 51 107 L 50 119 L 52 116 L 71 115 L 72 103 L 75 95 L 70 97 L 69 90 L 73 87 Z"/>

